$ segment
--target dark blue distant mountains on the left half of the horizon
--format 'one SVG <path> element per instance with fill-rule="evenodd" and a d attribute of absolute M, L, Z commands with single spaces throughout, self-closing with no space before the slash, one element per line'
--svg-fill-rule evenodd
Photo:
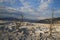
<path fill-rule="evenodd" d="M 6 21 L 23 21 L 23 22 L 38 22 L 37 20 L 18 19 L 18 18 L 14 18 L 14 17 L 0 18 L 0 20 L 6 20 Z"/>

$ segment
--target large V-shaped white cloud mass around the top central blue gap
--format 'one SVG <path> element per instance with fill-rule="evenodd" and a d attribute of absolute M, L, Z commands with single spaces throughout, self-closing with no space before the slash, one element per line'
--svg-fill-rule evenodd
<path fill-rule="evenodd" d="M 24 13 L 29 13 L 29 14 L 33 15 L 33 17 L 36 19 L 40 19 L 41 15 L 46 15 L 46 13 L 49 13 L 49 11 L 47 12 L 47 10 L 49 8 L 49 3 L 51 2 L 51 0 L 41 0 L 40 5 L 37 9 L 33 9 L 31 7 L 31 5 L 29 5 L 29 3 L 26 2 L 25 0 L 20 0 L 20 1 L 24 6 L 20 7 L 19 10 Z M 30 17 L 33 18 L 32 16 L 30 16 Z M 43 18 L 47 18 L 47 17 L 43 17 Z M 41 19 L 43 19 L 43 18 L 41 17 Z"/>

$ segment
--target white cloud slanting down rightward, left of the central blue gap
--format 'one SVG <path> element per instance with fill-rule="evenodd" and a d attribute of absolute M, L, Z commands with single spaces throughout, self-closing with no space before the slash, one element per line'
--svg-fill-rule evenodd
<path fill-rule="evenodd" d="M 32 8 L 31 5 L 25 0 L 20 0 L 21 3 L 23 4 L 23 7 L 20 7 L 18 10 L 24 12 L 24 13 L 30 13 L 35 15 L 35 10 Z"/>

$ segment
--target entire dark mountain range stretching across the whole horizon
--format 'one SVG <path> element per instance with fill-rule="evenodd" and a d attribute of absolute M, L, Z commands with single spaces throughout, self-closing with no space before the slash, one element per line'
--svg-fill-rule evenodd
<path fill-rule="evenodd" d="M 31 19 L 18 19 L 18 18 L 14 18 L 14 17 L 6 17 L 6 18 L 0 18 L 0 20 L 23 21 L 23 22 L 34 22 L 34 23 L 51 23 L 51 18 L 50 19 L 43 19 L 43 20 L 31 20 Z M 56 21 L 60 21 L 60 17 L 53 19 L 53 23 Z"/>

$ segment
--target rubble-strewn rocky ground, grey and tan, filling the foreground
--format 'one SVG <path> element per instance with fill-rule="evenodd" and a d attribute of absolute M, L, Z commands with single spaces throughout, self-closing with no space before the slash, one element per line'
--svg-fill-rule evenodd
<path fill-rule="evenodd" d="M 34 26 L 34 25 L 33 25 Z M 0 40 L 60 40 L 60 32 L 55 29 L 49 34 L 49 27 L 16 26 L 8 24 L 0 26 Z"/>

